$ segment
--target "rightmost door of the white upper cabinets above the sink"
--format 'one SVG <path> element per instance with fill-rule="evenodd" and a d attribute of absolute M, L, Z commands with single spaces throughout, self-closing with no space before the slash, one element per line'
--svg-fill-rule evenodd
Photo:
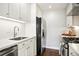
<path fill-rule="evenodd" d="M 28 22 L 30 14 L 30 5 L 27 3 L 20 4 L 20 20 Z"/>

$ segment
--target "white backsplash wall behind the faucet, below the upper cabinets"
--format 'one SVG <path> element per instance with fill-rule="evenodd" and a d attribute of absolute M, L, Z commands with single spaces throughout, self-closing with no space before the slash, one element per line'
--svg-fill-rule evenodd
<path fill-rule="evenodd" d="M 23 36 L 25 33 L 24 24 L 0 19 L 0 40 L 6 38 L 12 38 L 14 36 L 14 26 L 19 27 L 18 36 Z"/>

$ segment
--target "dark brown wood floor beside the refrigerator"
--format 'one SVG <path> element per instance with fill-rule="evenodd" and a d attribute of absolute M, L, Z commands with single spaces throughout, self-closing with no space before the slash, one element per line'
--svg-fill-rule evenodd
<path fill-rule="evenodd" d="M 43 53 L 43 56 L 60 56 L 59 50 L 46 48 L 44 53 Z"/>

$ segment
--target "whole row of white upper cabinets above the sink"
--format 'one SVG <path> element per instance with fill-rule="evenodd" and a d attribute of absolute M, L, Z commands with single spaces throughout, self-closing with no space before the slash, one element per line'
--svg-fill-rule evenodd
<path fill-rule="evenodd" d="M 0 16 L 9 17 L 24 22 L 30 22 L 31 4 L 0 3 Z"/>

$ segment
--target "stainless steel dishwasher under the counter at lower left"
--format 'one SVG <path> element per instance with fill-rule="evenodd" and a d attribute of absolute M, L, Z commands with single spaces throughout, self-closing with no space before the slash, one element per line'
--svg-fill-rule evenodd
<path fill-rule="evenodd" d="M 5 48 L 0 51 L 0 56 L 18 56 L 18 47 L 17 45 Z"/>

